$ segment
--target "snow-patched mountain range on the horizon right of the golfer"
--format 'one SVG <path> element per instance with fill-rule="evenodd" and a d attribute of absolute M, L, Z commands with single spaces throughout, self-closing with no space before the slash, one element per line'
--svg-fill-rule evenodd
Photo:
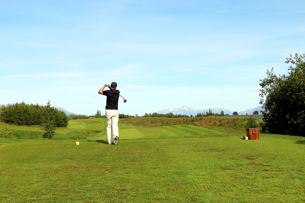
<path fill-rule="evenodd" d="M 256 107 L 256 108 L 250 108 L 250 109 L 247 109 L 247 110 L 244 110 L 244 111 L 240 111 L 238 112 L 239 115 L 251 115 L 253 114 L 253 111 L 257 110 L 260 114 L 260 110 L 262 109 L 262 106 L 259 106 L 259 107 Z M 224 111 L 224 114 L 229 114 L 229 115 L 232 115 L 234 111 L 232 110 L 229 110 L 229 109 L 224 109 L 224 108 L 209 108 L 209 109 L 204 109 L 204 110 L 201 110 L 201 109 L 192 109 L 192 108 L 189 108 L 189 107 L 180 107 L 180 108 L 176 108 L 176 109 L 163 109 L 163 110 L 160 110 L 160 111 L 157 111 L 158 114 L 168 114 L 168 113 L 173 113 L 173 114 L 181 114 L 181 115 L 197 115 L 199 113 L 203 114 L 205 112 L 209 112 L 209 110 L 211 110 L 213 113 L 215 114 L 220 114 L 221 111 L 223 110 Z"/>

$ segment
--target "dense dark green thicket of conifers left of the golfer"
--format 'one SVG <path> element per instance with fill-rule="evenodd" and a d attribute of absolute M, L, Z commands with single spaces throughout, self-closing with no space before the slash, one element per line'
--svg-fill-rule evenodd
<path fill-rule="evenodd" d="M 3 106 L 2 106 L 3 108 Z M 54 127 L 67 127 L 69 118 L 65 112 L 54 107 L 40 106 L 37 104 L 15 103 L 4 107 L 2 112 L 3 122 L 16 125 L 43 125 L 45 111 L 49 112 L 49 119 Z"/>

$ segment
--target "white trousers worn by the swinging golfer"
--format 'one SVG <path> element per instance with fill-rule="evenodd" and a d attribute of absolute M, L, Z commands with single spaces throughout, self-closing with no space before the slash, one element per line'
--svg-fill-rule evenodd
<path fill-rule="evenodd" d="M 106 110 L 107 119 L 107 138 L 108 143 L 111 144 L 116 136 L 119 136 L 119 127 L 117 123 L 119 122 L 119 111 L 118 110 Z"/>

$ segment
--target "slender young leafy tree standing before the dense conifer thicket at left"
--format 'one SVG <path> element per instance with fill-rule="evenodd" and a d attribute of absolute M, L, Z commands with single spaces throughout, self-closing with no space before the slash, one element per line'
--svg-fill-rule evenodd
<path fill-rule="evenodd" d="M 55 133 L 55 126 L 53 123 L 53 114 L 52 108 L 50 107 L 50 100 L 47 103 L 45 108 L 45 116 L 44 116 L 44 123 L 43 123 L 43 130 L 45 131 L 43 137 L 44 138 L 52 138 Z"/>

